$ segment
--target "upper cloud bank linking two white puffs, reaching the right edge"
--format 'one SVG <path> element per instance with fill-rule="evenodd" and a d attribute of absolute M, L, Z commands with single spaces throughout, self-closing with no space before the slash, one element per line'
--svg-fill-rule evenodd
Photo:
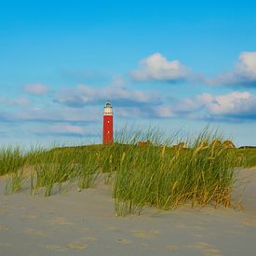
<path fill-rule="evenodd" d="M 130 72 L 135 81 L 184 82 L 190 81 L 209 86 L 256 86 L 256 52 L 242 52 L 233 71 L 208 77 L 197 74 L 180 61 L 168 61 L 160 53 L 154 53 L 139 62 Z"/>

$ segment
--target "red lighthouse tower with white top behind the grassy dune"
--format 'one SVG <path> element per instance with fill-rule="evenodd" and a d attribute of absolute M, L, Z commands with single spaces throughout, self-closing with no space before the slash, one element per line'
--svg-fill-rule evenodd
<path fill-rule="evenodd" d="M 103 115 L 103 144 L 113 143 L 113 111 L 110 101 L 104 107 Z"/>

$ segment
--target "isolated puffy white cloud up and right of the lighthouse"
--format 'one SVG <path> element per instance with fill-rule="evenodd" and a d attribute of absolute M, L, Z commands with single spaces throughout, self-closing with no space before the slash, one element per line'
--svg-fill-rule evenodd
<path fill-rule="evenodd" d="M 141 60 L 139 68 L 133 70 L 131 76 L 138 81 L 179 81 L 190 76 L 189 70 L 180 61 L 168 61 L 160 53 L 155 53 Z"/>

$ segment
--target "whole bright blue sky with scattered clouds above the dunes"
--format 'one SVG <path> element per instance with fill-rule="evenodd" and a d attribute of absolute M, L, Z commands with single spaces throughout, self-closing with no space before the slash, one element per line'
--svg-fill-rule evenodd
<path fill-rule="evenodd" d="M 256 144 L 255 1 L 2 1 L 1 144 L 124 125 Z"/>

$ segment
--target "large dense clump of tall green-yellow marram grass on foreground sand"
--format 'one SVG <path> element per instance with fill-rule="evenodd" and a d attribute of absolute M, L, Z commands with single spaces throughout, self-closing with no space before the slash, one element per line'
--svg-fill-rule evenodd
<path fill-rule="evenodd" d="M 149 143 L 123 151 L 113 189 L 117 215 L 140 213 L 144 206 L 230 206 L 239 163 L 234 150 L 216 141 L 221 139 L 204 132 L 189 148 Z"/>

